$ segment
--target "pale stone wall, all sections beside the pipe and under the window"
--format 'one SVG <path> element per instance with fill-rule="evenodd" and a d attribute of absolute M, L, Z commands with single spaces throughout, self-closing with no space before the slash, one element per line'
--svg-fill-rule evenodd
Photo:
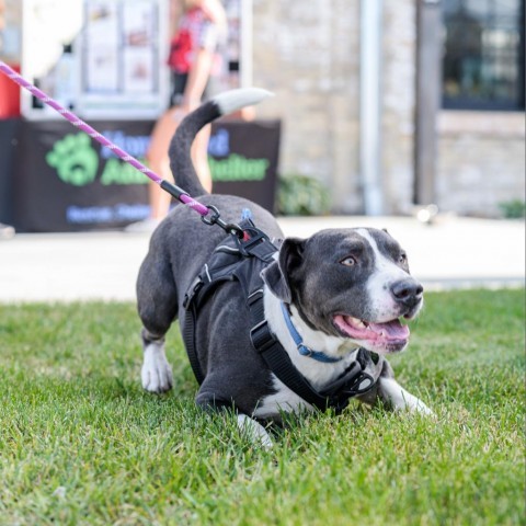
<path fill-rule="evenodd" d="M 281 173 L 325 183 L 336 213 L 363 211 L 359 0 L 253 0 L 253 8 L 254 84 L 277 95 L 258 113 L 283 119 Z M 381 167 L 390 214 L 412 207 L 415 22 L 415 0 L 384 2 Z M 442 210 L 495 216 L 499 203 L 524 199 L 524 114 L 438 117 Z"/>

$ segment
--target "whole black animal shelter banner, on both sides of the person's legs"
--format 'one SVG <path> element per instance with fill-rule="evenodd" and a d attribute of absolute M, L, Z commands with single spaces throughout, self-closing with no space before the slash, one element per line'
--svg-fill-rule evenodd
<path fill-rule="evenodd" d="M 14 165 L 19 231 L 123 228 L 148 217 L 148 178 L 66 122 L 22 122 Z M 90 123 L 145 162 L 152 122 Z M 214 192 L 274 208 L 278 122 L 216 123 L 210 137 Z"/>

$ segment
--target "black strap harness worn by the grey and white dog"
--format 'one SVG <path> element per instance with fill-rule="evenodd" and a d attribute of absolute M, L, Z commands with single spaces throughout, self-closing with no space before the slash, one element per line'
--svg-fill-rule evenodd
<path fill-rule="evenodd" d="M 261 272 L 274 261 L 273 256 L 278 248 L 265 233 L 255 228 L 251 220 L 243 221 L 241 226 L 247 239 L 239 240 L 231 236 L 222 241 L 185 295 L 183 305 L 186 309 L 186 321 L 183 340 L 195 378 L 199 385 L 205 379 L 195 348 L 195 329 L 199 310 L 221 283 L 238 282 L 250 310 L 252 345 L 272 373 L 311 405 L 322 411 L 329 408 L 336 412 L 342 411 L 351 398 L 367 392 L 375 385 L 374 378 L 364 370 L 366 359 L 363 353 L 366 351 L 361 350 L 356 361 L 322 391 L 315 390 L 294 366 L 265 319 Z"/>

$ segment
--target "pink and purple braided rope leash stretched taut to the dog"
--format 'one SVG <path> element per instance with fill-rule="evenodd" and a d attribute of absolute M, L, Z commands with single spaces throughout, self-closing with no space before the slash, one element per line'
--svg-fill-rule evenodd
<path fill-rule="evenodd" d="M 16 71 L 14 71 L 14 69 L 9 67 L 2 60 L 0 60 L 0 71 L 4 73 L 7 77 L 9 77 L 13 82 L 19 84 L 21 88 L 24 88 L 25 90 L 30 91 L 38 100 L 41 100 L 48 106 L 53 107 L 66 121 L 69 121 L 73 126 L 87 133 L 92 139 L 96 140 L 102 146 L 110 148 L 110 150 L 112 150 L 123 161 L 127 162 L 128 164 L 132 164 L 135 169 L 144 173 L 147 178 L 149 178 L 155 183 L 159 184 L 162 190 L 171 194 L 181 203 L 184 203 L 186 206 L 190 206 L 192 209 L 201 214 L 203 217 L 208 214 L 208 207 L 206 207 L 205 205 L 192 198 L 186 192 L 184 192 L 184 190 L 180 188 L 179 186 L 175 186 L 174 184 L 170 183 L 164 179 L 161 179 L 157 173 L 152 172 L 148 167 L 142 164 L 135 157 L 122 150 L 117 145 L 113 144 L 111 140 L 106 139 L 103 135 L 96 132 L 96 129 L 92 128 L 89 124 L 84 123 L 84 121 L 82 121 L 77 115 L 75 115 L 75 113 L 71 113 L 69 110 L 66 110 L 57 101 L 46 95 L 46 93 L 44 93 L 42 90 L 36 88 L 36 85 L 33 85 L 32 83 L 27 82 L 22 76 L 20 76 Z"/>

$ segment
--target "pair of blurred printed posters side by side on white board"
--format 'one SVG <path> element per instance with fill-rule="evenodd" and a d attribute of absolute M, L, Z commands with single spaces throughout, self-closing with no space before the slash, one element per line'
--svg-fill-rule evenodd
<path fill-rule="evenodd" d="M 157 118 L 169 76 L 168 0 L 83 0 L 79 105 L 89 118 Z M 110 35 L 110 36 L 107 36 Z"/>

